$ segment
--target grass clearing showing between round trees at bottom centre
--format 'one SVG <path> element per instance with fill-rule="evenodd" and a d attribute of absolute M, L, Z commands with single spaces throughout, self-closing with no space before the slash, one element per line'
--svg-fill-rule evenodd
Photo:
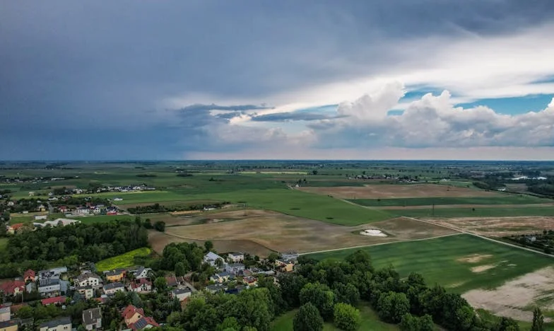
<path fill-rule="evenodd" d="M 400 330 L 397 325 L 381 322 L 377 313 L 372 310 L 369 304 L 363 302 L 358 306 L 360 315 L 362 316 L 362 324 L 358 330 L 376 330 L 376 331 L 392 331 Z M 293 331 L 293 319 L 298 310 L 292 310 L 276 318 L 272 325 L 271 331 Z M 336 328 L 333 323 L 325 323 L 324 331 L 341 330 Z"/>

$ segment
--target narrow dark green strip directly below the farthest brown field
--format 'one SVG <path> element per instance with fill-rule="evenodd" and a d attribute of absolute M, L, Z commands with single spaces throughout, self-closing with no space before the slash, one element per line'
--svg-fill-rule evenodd
<path fill-rule="evenodd" d="M 431 206 L 444 204 L 543 204 L 552 203 L 552 199 L 541 199 L 529 195 L 508 195 L 502 197 L 428 197 L 407 199 L 351 199 L 362 206 Z"/>

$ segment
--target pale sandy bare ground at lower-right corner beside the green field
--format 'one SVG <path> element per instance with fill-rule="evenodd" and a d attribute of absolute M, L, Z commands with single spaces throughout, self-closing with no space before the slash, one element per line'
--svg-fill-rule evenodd
<path fill-rule="evenodd" d="M 474 308 L 489 310 L 495 315 L 533 319 L 529 307 L 538 305 L 543 310 L 554 309 L 554 267 L 546 267 L 508 281 L 494 290 L 472 290 L 463 297 Z"/>

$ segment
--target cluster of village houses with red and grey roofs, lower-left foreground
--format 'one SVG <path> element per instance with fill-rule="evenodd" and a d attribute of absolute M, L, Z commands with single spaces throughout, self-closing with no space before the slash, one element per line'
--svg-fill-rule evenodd
<path fill-rule="evenodd" d="M 246 267 L 242 252 L 218 255 L 208 251 L 203 264 L 216 272 L 204 282 L 194 281 L 191 273 L 157 276 L 153 269 L 143 266 L 97 272 L 92 262 L 81 263 L 78 267 L 53 267 L 36 272 L 28 269 L 20 277 L 0 284 L 0 330 L 136 331 L 159 327 L 163 323 L 145 313 L 144 308 L 139 307 L 141 305 L 121 305 L 122 298 L 131 296 L 134 301 L 144 303 L 154 300 L 155 296 L 164 296 L 165 301 L 177 302 L 184 308 L 195 293 L 235 295 L 244 289 L 257 287 L 258 280 L 267 277 L 278 284 L 279 274 L 294 271 L 297 257 L 296 252 L 286 252 Z M 81 311 L 81 320 L 75 327 L 72 307 L 79 304 L 86 309 Z M 59 315 L 48 320 L 28 317 L 30 307 L 37 310 L 50 306 L 57 309 L 55 311 Z M 103 319 L 110 309 L 117 309 L 117 318 L 111 321 Z"/>

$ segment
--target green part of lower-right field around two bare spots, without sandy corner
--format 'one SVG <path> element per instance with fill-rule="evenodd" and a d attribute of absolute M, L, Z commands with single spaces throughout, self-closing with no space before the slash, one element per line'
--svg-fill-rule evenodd
<path fill-rule="evenodd" d="M 471 289 L 494 289 L 509 279 L 553 265 L 554 259 L 526 250 L 510 248 L 471 235 L 459 235 L 406 243 L 391 243 L 364 248 L 375 267 L 393 265 L 401 276 L 423 274 L 428 284 L 441 284 L 456 293 Z M 342 259 L 355 249 L 312 254 L 317 260 Z M 459 259 L 470 255 L 492 255 L 480 262 Z M 472 272 L 479 265 L 496 265 L 483 272 Z"/>

